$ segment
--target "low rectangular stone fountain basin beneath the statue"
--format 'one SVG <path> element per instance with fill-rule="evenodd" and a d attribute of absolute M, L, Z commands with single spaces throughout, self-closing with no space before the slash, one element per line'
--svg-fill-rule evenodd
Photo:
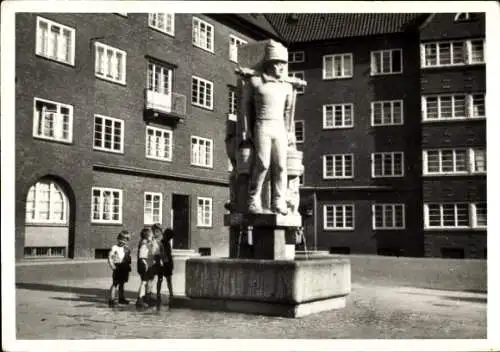
<path fill-rule="evenodd" d="M 348 259 L 186 262 L 184 304 L 196 309 L 301 317 L 343 308 L 350 291 Z"/>

